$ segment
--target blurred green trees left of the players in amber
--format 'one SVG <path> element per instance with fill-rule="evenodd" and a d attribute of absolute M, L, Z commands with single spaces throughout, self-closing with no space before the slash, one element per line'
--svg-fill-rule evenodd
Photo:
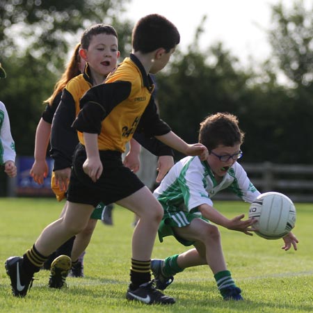
<path fill-rule="evenodd" d="M 18 155 L 33 155 L 35 129 L 67 62 L 86 27 L 112 24 L 122 57 L 129 54 L 132 22 L 120 13 L 129 0 L 0 0 L 1 101 L 10 115 Z M 1 194 L 6 176 L 0 174 Z"/>

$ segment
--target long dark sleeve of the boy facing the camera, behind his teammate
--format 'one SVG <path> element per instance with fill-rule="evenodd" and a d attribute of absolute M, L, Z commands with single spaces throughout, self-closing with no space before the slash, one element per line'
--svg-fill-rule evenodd
<path fill-rule="evenodd" d="M 71 127 L 75 117 L 74 99 L 70 92 L 64 89 L 51 125 L 50 155 L 54 159 L 54 170 L 72 166 L 72 156 L 78 143 L 77 131 Z"/>

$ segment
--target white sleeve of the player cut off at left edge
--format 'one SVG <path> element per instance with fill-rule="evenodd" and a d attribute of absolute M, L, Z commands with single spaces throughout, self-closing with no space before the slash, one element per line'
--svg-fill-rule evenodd
<path fill-rule="evenodd" d="M 6 106 L 0 102 L 0 164 L 15 162 L 15 143 L 10 131 L 10 120 Z"/>

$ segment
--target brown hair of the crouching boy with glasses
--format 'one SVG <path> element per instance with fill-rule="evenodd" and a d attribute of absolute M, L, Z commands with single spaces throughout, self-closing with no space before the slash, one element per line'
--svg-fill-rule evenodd
<path fill-rule="evenodd" d="M 234 147 L 243 143 L 244 133 L 239 129 L 236 115 L 216 113 L 209 115 L 200 123 L 199 142 L 214 150 L 218 145 Z"/>

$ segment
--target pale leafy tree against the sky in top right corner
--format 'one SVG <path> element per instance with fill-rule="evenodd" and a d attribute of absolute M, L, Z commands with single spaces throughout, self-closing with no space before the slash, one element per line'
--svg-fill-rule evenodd
<path fill-rule="evenodd" d="M 313 81 L 313 7 L 305 8 L 302 0 L 294 1 L 290 9 L 282 2 L 273 6 L 268 36 L 284 74 L 296 86 L 310 86 Z"/>

